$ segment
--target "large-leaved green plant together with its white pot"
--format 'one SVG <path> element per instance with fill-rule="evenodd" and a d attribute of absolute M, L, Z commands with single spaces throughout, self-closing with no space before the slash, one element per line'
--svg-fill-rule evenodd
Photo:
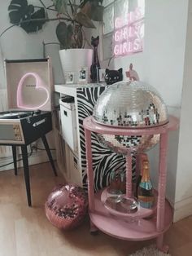
<path fill-rule="evenodd" d="M 60 44 L 59 55 L 63 69 L 68 67 L 68 72 L 77 71 L 82 66 L 89 67 L 92 50 L 83 49 L 84 28 L 94 29 L 92 20 L 103 20 L 103 0 L 52 0 L 53 3 L 48 7 L 42 0 L 39 2 L 41 7 L 28 4 L 28 0 L 11 0 L 8 7 L 11 24 L 20 26 L 27 33 L 33 33 L 42 29 L 46 22 L 58 20 L 55 33 Z M 55 18 L 50 18 L 48 11 L 55 11 Z M 3 33 L 6 31 L 7 29 Z M 76 50 L 65 51 L 67 49 Z M 72 64 L 76 66 L 72 67 Z"/>

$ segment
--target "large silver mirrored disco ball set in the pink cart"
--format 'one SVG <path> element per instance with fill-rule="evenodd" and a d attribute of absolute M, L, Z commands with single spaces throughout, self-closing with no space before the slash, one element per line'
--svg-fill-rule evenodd
<path fill-rule="evenodd" d="M 116 82 L 103 91 L 94 106 L 94 121 L 122 129 L 151 128 L 168 123 L 164 100 L 143 82 Z M 159 135 L 99 135 L 102 143 L 121 154 L 143 152 L 159 142 Z"/>

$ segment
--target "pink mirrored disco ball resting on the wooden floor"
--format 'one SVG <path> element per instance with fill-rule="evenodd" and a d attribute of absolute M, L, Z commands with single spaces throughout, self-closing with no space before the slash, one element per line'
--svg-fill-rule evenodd
<path fill-rule="evenodd" d="M 50 192 L 46 203 L 46 217 L 55 227 L 69 230 L 78 226 L 87 212 L 88 197 L 76 184 L 59 185 Z"/>

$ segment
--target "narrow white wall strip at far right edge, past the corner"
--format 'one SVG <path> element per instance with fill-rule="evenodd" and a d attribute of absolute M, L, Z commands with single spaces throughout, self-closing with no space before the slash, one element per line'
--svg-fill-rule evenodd
<path fill-rule="evenodd" d="M 181 103 L 181 124 L 178 148 L 177 164 L 177 185 L 176 185 L 176 211 L 175 220 L 184 218 L 192 214 L 192 157 L 191 145 L 192 137 L 191 127 L 192 119 L 190 111 L 192 109 L 192 2 L 189 2 L 189 16 L 187 26 L 187 38 L 185 46 L 185 66 L 184 81 Z"/>

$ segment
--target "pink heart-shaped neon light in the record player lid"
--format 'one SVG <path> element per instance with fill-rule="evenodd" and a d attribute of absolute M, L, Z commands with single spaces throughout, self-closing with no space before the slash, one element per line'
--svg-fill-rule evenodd
<path fill-rule="evenodd" d="M 35 78 L 35 90 L 45 90 L 46 92 L 46 100 L 44 102 L 42 102 L 39 105 L 26 105 L 24 104 L 23 101 L 23 96 L 22 96 L 22 90 L 23 90 L 23 86 L 24 86 L 24 81 L 27 77 L 34 77 Z M 21 77 L 20 82 L 18 84 L 17 87 L 17 107 L 18 108 L 25 108 L 25 109 L 40 109 L 43 106 L 45 106 L 48 102 L 48 100 L 50 99 L 50 94 L 49 91 L 46 89 L 45 86 L 43 86 L 43 82 L 41 81 L 41 77 L 39 77 L 37 75 L 37 73 L 26 73 L 24 74 L 23 77 Z"/>

